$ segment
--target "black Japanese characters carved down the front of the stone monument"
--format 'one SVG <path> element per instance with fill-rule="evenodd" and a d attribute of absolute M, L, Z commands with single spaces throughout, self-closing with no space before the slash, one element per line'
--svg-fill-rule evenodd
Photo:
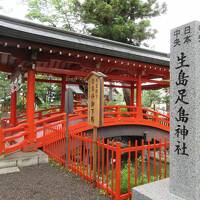
<path fill-rule="evenodd" d="M 175 29 L 173 32 L 173 48 L 176 49 L 180 46 L 186 46 L 192 42 L 192 31 L 190 25 L 183 27 L 183 29 Z M 184 48 L 183 48 L 184 49 Z M 174 152 L 177 155 L 189 156 L 186 138 L 190 134 L 188 130 L 188 121 L 190 119 L 190 114 L 188 113 L 189 102 L 188 102 L 188 84 L 189 75 L 188 69 L 190 64 L 188 61 L 188 55 L 184 50 L 181 50 L 176 55 L 176 94 L 177 98 L 173 102 L 177 107 L 175 121 L 177 123 L 174 129 L 174 135 L 176 137 L 176 143 L 174 147 Z"/>

